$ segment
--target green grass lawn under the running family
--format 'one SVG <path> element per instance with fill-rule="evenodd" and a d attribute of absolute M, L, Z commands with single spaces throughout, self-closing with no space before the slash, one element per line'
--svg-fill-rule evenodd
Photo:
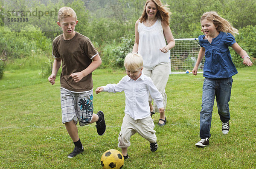
<path fill-rule="evenodd" d="M 256 168 L 256 66 L 241 68 L 233 76 L 230 100 L 230 132 L 223 135 L 216 103 L 212 115 L 210 145 L 198 148 L 202 74 L 169 76 L 166 87 L 167 123 L 157 126 L 158 150 L 151 152 L 140 135 L 131 137 L 129 159 L 123 169 Z M 125 108 L 124 93 L 94 94 L 94 113 L 105 113 L 107 130 L 99 136 L 95 124 L 78 127 L 84 153 L 68 159 L 73 151 L 61 123 L 60 83 L 50 85 L 39 70 L 6 71 L 0 80 L 0 169 L 101 169 L 100 158 L 117 149 Z M 117 83 L 125 72 L 99 69 L 93 73 L 94 90 Z"/>

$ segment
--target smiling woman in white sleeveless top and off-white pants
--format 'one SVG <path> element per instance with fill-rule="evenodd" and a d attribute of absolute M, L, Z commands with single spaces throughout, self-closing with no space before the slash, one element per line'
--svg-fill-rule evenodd
<path fill-rule="evenodd" d="M 169 8 L 163 6 L 160 0 L 147 0 L 142 16 L 135 23 L 135 43 L 133 52 L 143 56 L 143 73 L 151 77 L 154 85 L 163 95 L 164 107 L 167 96 L 165 87 L 170 72 L 170 52 L 175 46 L 175 40 L 169 27 Z M 167 45 L 166 45 L 167 41 Z M 151 104 L 151 116 L 158 112 L 156 104 Z M 159 126 L 166 124 L 165 113 L 160 113 Z"/>

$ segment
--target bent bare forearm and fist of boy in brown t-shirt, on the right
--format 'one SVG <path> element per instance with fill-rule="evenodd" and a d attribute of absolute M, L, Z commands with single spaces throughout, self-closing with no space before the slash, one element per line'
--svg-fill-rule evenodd
<path fill-rule="evenodd" d="M 86 69 L 82 70 L 81 72 L 72 73 L 70 76 L 75 82 L 79 82 L 85 76 L 92 73 L 96 68 L 98 68 L 101 63 L 102 60 L 100 59 L 99 54 L 97 54 L 95 57 L 93 57 L 93 62 L 91 62 L 91 64 Z"/>

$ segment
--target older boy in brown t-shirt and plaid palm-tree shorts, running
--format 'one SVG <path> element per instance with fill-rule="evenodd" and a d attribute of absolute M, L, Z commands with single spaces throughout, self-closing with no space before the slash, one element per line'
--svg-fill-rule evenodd
<path fill-rule="evenodd" d="M 92 72 L 101 65 L 99 53 L 90 39 L 75 31 L 78 23 L 76 12 L 70 7 L 58 11 L 57 24 L 63 34 L 52 42 L 52 55 L 55 57 L 49 82 L 54 85 L 58 69 L 61 67 L 61 112 L 62 123 L 75 144 L 68 158 L 82 153 L 84 148 L 78 135 L 77 122 L 80 126 L 96 122 L 99 135 L 106 130 L 104 113 L 93 114 Z"/>

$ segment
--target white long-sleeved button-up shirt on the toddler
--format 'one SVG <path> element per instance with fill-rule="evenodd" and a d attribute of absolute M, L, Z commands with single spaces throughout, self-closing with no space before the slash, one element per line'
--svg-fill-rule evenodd
<path fill-rule="evenodd" d="M 162 94 L 157 90 L 151 78 L 143 73 L 136 81 L 129 76 L 124 76 L 117 84 L 108 84 L 103 88 L 105 92 L 125 92 L 125 114 L 130 115 L 134 120 L 150 115 L 149 93 L 157 107 L 163 107 Z"/>

